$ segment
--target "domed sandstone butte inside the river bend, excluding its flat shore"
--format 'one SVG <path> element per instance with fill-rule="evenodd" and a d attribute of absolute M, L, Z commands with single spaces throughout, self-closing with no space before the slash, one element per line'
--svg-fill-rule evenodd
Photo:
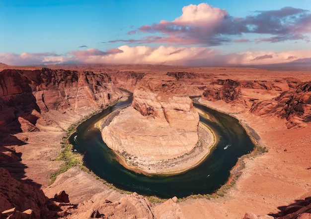
<path fill-rule="evenodd" d="M 108 147 L 138 166 L 182 156 L 198 141 L 199 115 L 191 99 L 174 93 L 181 89 L 174 82 L 159 82 L 138 86 L 132 107 L 102 130 Z"/>

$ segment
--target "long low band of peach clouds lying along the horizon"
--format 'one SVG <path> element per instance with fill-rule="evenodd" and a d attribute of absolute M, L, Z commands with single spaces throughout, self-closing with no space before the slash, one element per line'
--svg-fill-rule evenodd
<path fill-rule="evenodd" d="M 311 50 L 245 52 L 224 54 L 208 47 L 121 46 L 107 51 L 87 49 L 71 51 L 67 55 L 55 53 L 2 53 L 0 62 L 9 65 L 56 63 L 113 63 L 113 64 L 167 64 L 186 66 L 248 65 L 290 63 L 293 60 L 310 60 Z M 307 64 L 310 62 L 306 62 Z"/>

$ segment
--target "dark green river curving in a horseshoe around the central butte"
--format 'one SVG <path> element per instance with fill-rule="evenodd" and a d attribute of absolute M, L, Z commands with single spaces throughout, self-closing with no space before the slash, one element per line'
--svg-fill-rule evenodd
<path fill-rule="evenodd" d="M 77 131 L 70 137 L 70 142 L 74 145 L 73 150 L 84 155 L 85 166 L 118 188 L 161 198 L 211 194 L 228 181 L 230 170 L 238 158 L 250 153 L 254 148 L 254 144 L 236 118 L 194 104 L 209 117 L 207 119 L 200 115 L 200 121 L 211 127 L 219 137 L 218 144 L 208 158 L 195 168 L 177 175 L 146 176 L 136 173 L 118 163 L 114 153 L 103 142 L 100 130 L 94 127 L 99 119 L 130 103 L 131 98 L 92 116 L 78 125 Z"/>

